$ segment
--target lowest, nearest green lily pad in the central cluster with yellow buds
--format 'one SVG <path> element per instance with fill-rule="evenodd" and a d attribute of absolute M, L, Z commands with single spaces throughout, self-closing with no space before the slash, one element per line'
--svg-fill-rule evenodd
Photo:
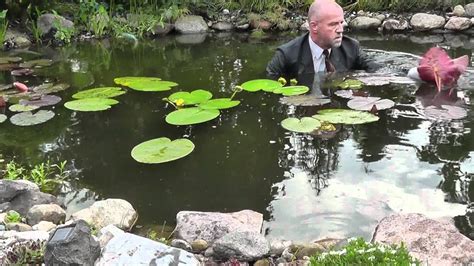
<path fill-rule="evenodd" d="M 219 110 L 204 110 L 199 107 L 173 111 L 166 116 L 166 122 L 175 126 L 204 123 L 218 117 Z"/>

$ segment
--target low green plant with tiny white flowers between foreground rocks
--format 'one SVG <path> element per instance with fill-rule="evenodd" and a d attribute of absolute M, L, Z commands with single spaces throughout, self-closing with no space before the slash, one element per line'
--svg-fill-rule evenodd
<path fill-rule="evenodd" d="M 347 246 L 311 257 L 312 266 L 319 265 L 420 265 L 406 247 L 367 243 L 363 238 L 349 239 Z"/>

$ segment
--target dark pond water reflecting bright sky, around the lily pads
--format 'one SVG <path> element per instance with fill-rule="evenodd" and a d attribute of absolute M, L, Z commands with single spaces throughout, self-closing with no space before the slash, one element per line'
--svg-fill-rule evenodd
<path fill-rule="evenodd" d="M 458 35 L 350 35 L 364 48 L 377 49 L 370 54 L 384 63 L 385 71 L 400 74 L 416 64 L 405 53 L 419 56 L 434 42 L 452 57 L 471 57 L 474 51 L 469 38 Z M 16 80 L 29 85 L 67 82 L 72 87 L 58 94 L 63 102 L 81 89 L 113 86 L 120 76 L 156 76 L 179 83 L 173 91 L 207 89 L 215 97 L 228 97 L 235 85 L 264 78 L 275 47 L 292 37 L 213 34 L 137 45 L 104 40 L 41 47 L 31 50 L 55 64 L 36 77 Z M 1 73 L 0 83 L 13 81 L 9 72 Z M 474 238 L 469 209 L 474 198 L 472 75 L 462 77 L 447 101 L 467 110 L 467 118 L 459 120 L 422 115 L 434 87 L 390 85 L 367 88 L 371 95 L 397 103 L 381 111 L 378 122 L 343 126 L 326 139 L 280 126 L 286 117 L 312 115 L 318 108 L 284 105 L 278 95 L 264 92 L 238 93 L 242 103 L 217 119 L 176 127 L 165 123 L 173 108 L 162 101 L 173 91 L 130 90 L 105 112 L 73 112 L 61 103 L 49 108 L 56 116 L 45 124 L 17 127 L 7 121 L 0 125 L 0 151 L 21 163 L 68 160 L 74 170 L 63 193 L 69 213 L 97 199 L 123 198 L 137 209 L 140 225 L 173 225 L 181 210 L 251 209 L 264 214 L 269 237 L 313 240 L 370 239 L 382 217 L 420 212 L 454 217 L 460 231 Z M 332 106 L 345 108 L 344 100 L 332 99 Z M 145 165 L 131 158 L 135 145 L 157 137 L 187 137 L 196 148 L 166 164 Z"/>

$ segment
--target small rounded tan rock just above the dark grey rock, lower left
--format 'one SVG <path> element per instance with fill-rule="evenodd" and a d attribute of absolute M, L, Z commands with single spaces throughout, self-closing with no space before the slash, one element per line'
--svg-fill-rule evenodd
<path fill-rule="evenodd" d="M 26 215 L 26 220 L 30 225 L 41 221 L 60 224 L 66 220 L 66 211 L 57 204 L 38 204 L 31 207 Z"/>

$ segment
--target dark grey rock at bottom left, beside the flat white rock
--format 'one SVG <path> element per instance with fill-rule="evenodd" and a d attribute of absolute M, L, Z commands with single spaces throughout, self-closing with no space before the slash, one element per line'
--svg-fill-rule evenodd
<path fill-rule="evenodd" d="M 62 231 L 65 233 L 56 239 Z M 54 231 L 46 243 L 44 262 L 46 265 L 93 265 L 99 255 L 99 242 L 92 237 L 89 225 L 78 220 Z"/>

